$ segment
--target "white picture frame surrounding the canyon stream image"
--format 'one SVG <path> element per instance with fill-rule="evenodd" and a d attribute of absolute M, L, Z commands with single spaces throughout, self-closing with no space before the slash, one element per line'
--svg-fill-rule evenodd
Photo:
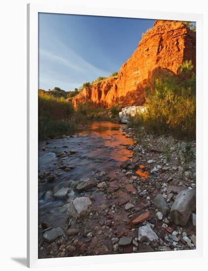
<path fill-rule="evenodd" d="M 112 9 L 75 7 L 54 3 L 28 4 L 27 6 L 27 138 L 28 138 L 28 173 L 27 173 L 27 266 L 57 267 L 70 265 L 116 263 L 158 259 L 193 258 L 202 256 L 203 247 L 203 176 L 202 176 L 202 14 L 171 13 L 160 11 L 141 11 L 134 9 Z M 38 13 L 62 13 L 94 16 L 112 16 L 126 18 L 165 19 L 195 21 L 196 35 L 196 76 L 197 76 L 197 246 L 195 250 L 167 251 L 154 253 L 133 253 L 104 256 L 82 256 L 70 258 L 38 259 Z"/>

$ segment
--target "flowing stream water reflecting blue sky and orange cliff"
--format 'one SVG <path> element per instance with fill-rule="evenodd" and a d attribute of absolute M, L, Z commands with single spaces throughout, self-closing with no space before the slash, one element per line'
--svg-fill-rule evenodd
<path fill-rule="evenodd" d="M 94 178 L 95 173 L 100 171 L 114 177 L 119 165 L 131 159 L 133 151 L 127 147 L 134 142 L 130 136 L 124 134 L 124 127 L 123 124 L 107 121 L 92 122 L 73 136 L 49 139 L 47 143 L 39 142 L 39 223 L 47 221 L 53 227 L 63 227 L 66 223 L 67 203 L 71 200 L 70 197 L 74 196 L 75 190 L 69 190 L 71 193 L 69 192 L 67 199 L 48 198 L 48 191 L 55 193 L 63 187 L 70 189 L 72 180 Z M 43 151 L 43 147 L 46 150 Z M 65 151 L 66 155 L 57 157 L 57 154 Z M 69 155 L 70 151 L 72 154 Z M 66 167 L 71 170 L 64 169 Z M 45 179 L 51 173 L 55 175 L 55 180 L 46 182 Z"/>

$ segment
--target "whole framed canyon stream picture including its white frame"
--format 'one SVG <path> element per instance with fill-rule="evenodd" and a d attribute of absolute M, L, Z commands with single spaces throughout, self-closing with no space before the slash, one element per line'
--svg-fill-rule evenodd
<path fill-rule="evenodd" d="M 28 4 L 28 267 L 202 255 L 202 15 Z"/>

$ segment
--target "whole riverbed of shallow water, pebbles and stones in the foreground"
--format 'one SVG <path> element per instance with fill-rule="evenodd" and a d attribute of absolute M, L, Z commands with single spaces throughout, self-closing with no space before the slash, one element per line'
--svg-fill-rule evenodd
<path fill-rule="evenodd" d="M 40 142 L 38 257 L 195 249 L 195 151 L 110 122 Z"/>

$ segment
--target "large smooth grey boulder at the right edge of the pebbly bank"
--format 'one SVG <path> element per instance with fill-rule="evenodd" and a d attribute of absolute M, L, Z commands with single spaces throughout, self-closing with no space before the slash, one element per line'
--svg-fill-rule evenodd
<path fill-rule="evenodd" d="M 171 220 L 176 225 L 185 226 L 191 213 L 196 208 L 196 190 L 186 189 L 175 198 L 171 208 Z"/>

